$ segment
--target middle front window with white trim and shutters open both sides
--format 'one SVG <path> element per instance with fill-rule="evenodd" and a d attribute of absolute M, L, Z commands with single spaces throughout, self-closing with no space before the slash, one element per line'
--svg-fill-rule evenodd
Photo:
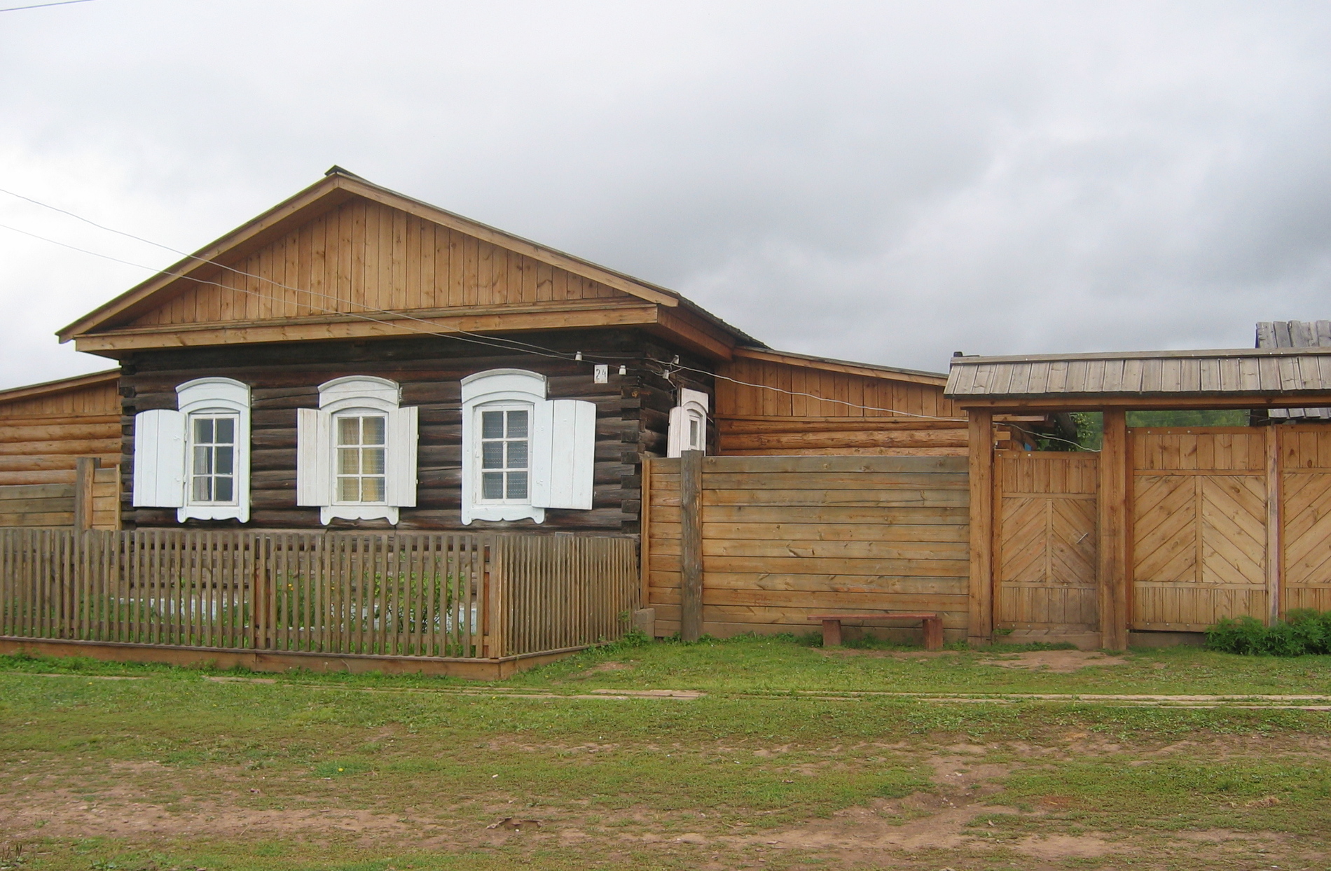
<path fill-rule="evenodd" d="M 319 523 L 386 519 L 415 505 L 418 410 L 383 378 L 319 384 L 319 407 L 295 420 L 295 504 L 317 505 Z"/>

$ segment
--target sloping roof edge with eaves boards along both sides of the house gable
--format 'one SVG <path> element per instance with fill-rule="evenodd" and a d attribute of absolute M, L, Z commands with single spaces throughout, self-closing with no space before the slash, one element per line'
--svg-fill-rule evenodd
<path fill-rule="evenodd" d="M 518 251 L 536 261 L 600 282 L 647 302 L 667 309 L 689 311 L 733 336 L 737 344 L 763 346 L 757 339 L 684 299 L 673 290 L 592 263 L 584 258 L 566 254 L 564 251 L 532 242 L 512 233 L 506 233 L 421 199 L 399 194 L 369 182 L 339 166 L 333 166 L 325 173 L 323 178 L 273 206 L 257 218 L 214 239 L 193 254 L 164 269 L 157 275 L 130 287 L 110 302 L 98 306 L 83 318 L 63 327 L 56 335 L 60 336 L 61 342 L 68 342 L 89 332 L 116 328 L 137 314 L 161 305 L 164 298 L 170 298 L 178 293 L 181 287 L 190 283 L 188 282 L 189 277 L 202 278 L 204 273 L 216 270 L 218 262 L 236 261 L 353 197 L 363 197 L 373 202 L 401 209 L 409 214 L 449 226 L 507 250 Z"/>

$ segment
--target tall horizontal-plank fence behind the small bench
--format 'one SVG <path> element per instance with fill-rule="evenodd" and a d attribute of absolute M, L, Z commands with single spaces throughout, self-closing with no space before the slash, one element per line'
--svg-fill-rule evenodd
<path fill-rule="evenodd" d="M 968 622 L 964 457 L 705 457 L 703 632 L 811 632 L 809 614 L 937 610 Z M 647 589 L 679 629 L 679 460 L 651 460 Z M 892 625 L 892 624 L 880 624 Z"/>

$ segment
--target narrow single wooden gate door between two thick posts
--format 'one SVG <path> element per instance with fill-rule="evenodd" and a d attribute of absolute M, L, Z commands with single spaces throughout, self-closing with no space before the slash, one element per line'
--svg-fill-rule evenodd
<path fill-rule="evenodd" d="M 994 625 L 1094 632 L 1098 457 L 1022 451 L 996 456 Z"/>

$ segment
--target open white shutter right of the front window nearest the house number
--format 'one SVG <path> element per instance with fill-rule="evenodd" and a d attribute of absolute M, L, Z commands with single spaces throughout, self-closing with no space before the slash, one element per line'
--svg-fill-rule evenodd
<path fill-rule="evenodd" d="M 578 399 L 538 402 L 534 424 L 531 504 L 591 509 L 596 404 Z"/>

